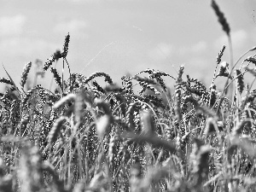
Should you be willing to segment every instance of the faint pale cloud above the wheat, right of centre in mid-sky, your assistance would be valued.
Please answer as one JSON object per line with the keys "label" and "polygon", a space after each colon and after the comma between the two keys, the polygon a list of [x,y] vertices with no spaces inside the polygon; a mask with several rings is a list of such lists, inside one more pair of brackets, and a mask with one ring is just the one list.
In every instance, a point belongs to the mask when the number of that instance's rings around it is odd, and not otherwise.
{"label": "faint pale cloud above the wheat, right of centre in mid-sky", "polygon": [[173,54],[174,47],[172,44],[160,43],[154,49],[151,49],[148,53],[149,57],[155,61],[166,60]]}

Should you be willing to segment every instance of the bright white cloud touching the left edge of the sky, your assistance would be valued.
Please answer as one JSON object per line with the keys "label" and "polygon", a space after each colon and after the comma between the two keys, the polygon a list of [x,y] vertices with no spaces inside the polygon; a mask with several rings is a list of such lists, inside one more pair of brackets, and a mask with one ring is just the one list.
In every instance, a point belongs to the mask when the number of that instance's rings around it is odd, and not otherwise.
{"label": "bright white cloud touching the left edge of the sky", "polygon": [[26,16],[15,15],[12,17],[3,16],[0,18],[0,35],[19,35],[23,31]]}

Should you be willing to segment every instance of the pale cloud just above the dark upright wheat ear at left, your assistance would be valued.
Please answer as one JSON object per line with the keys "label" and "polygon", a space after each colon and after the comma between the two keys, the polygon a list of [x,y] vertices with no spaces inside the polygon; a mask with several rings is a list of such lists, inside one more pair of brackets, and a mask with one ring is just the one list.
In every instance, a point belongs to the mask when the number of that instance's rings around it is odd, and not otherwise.
{"label": "pale cloud just above the dark upright wheat ear at left", "polygon": [[88,38],[88,34],[85,31],[87,27],[88,23],[84,20],[69,20],[58,23],[55,26],[54,32],[63,34],[69,32],[75,38]]}

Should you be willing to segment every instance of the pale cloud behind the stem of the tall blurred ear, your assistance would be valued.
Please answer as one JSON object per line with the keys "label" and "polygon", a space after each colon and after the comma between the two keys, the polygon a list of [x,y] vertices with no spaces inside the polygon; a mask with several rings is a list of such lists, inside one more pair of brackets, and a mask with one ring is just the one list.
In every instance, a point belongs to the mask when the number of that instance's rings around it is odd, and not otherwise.
{"label": "pale cloud behind the stem of the tall blurred ear", "polygon": [[[247,43],[248,34],[244,30],[231,32],[232,46],[234,49],[241,49]],[[223,45],[228,45],[228,38],[226,35],[218,38],[215,43],[215,48],[220,49]]]}

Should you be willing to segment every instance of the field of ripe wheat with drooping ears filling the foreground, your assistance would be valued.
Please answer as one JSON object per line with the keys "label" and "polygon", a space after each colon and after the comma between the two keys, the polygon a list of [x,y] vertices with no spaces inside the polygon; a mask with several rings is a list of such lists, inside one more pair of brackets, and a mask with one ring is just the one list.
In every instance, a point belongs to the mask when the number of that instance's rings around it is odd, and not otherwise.
{"label": "field of ripe wheat with drooping ears filling the foreground", "polygon": [[[6,71],[0,191],[256,191],[256,47],[233,61],[230,26],[213,0],[212,9],[231,58],[222,61],[226,46],[216,53],[209,88],[183,74],[183,66],[176,77],[145,69],[118,84],[107,73],[72,73],[69,34],[40,72],[53,74],[54,91],[24,88],[32,62],[19,84]],[[223,87],[216,87],[218,78]],[[175,82],[173,94],[164,79]]]}

